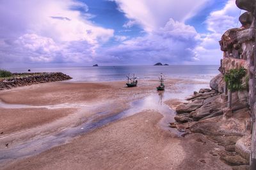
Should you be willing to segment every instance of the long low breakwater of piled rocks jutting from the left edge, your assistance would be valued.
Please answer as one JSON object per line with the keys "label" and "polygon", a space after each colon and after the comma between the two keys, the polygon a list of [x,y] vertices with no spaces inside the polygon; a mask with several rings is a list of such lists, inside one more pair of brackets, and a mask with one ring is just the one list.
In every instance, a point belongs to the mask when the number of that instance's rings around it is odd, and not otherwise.
{"label": "long low breakwater of piled rocks jutting from the left edge", "polygon": [[10,78],[0,78],[0,90],[12,89],[13,87],[22,87],[38,83],[47,83],[52,81],[63,81],[72,79],[70,76],[56,73],[12,73]]}

